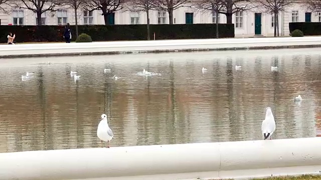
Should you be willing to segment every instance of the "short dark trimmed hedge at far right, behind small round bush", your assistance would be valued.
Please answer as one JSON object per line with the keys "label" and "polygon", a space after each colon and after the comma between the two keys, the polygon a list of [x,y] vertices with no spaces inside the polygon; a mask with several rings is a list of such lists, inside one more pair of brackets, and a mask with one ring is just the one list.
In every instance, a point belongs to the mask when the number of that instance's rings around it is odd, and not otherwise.
{"label": "short dark trimmed hedge at far right, behind small round bush", "polygon": [[299,29],[304,35],[321,35],[321,22],[289,22],[289,30]]}

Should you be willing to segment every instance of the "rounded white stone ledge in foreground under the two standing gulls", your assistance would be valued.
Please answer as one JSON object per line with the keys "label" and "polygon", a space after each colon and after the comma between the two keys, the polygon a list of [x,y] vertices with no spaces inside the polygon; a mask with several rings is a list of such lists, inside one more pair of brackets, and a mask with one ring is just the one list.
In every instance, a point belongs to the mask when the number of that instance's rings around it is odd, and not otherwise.
{"label": "rounded white stone ledge in foreground under the two standing gulls", "polygon": [[0,179],[209,179],[320,174],[321,137],[0,153]]}

